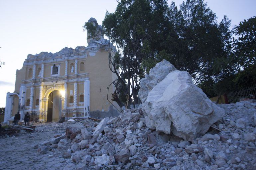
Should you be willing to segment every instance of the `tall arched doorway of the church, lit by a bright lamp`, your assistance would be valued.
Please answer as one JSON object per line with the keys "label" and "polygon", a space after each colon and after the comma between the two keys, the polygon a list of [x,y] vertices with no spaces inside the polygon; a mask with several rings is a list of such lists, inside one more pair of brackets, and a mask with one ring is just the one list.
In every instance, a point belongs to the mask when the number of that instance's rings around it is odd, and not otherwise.
{"label": "tall arched doorway of the church, lit by a bright lamp", "polygon": [[48,96],[47,121],[59,121],[62,114],[61,93],[59,90],[52,91]]}

